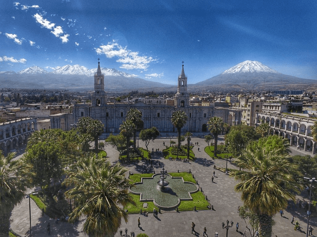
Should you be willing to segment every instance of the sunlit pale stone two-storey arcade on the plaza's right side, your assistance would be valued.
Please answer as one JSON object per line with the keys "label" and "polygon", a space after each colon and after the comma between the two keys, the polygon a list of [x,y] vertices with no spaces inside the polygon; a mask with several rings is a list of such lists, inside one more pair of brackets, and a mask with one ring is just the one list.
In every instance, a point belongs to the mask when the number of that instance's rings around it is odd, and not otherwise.
{"label": "sunlit pale stone two-storey arcade on the plaza's right side", "polygon": [[317,153],[317,142],[312,136],[312,126],[316,120],[285,114],[257,113],[256,126],[264,122],[269,123],[271,134],[286,138],[291,146],[312,152],[314,155]]}

